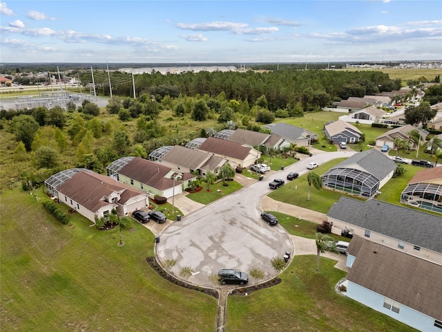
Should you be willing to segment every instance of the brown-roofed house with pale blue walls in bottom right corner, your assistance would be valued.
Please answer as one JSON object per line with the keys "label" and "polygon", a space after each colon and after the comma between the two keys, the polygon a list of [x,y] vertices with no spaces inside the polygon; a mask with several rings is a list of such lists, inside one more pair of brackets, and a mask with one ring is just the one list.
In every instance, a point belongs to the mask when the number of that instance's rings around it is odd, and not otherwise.
{"label": "brown-roofed house with pale blue walls in bottom right corner", "polygon": [[348,297],[419,331],[441,331],[440,264],[358,236],[347,252]]}

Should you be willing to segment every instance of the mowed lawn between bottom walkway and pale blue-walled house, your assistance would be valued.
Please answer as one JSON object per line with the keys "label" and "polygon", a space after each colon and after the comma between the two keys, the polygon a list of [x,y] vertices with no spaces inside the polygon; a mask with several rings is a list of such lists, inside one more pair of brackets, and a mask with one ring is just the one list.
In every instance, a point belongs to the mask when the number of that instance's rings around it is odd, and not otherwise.
{"label": "mowed lawn between bottom walkway and pale blue-walled house", "polygon": [[336,261],[296,256],[277,286],[227,299],[227,331],[416,331],[387,315],[338,295],[335,285],[347,273]]}

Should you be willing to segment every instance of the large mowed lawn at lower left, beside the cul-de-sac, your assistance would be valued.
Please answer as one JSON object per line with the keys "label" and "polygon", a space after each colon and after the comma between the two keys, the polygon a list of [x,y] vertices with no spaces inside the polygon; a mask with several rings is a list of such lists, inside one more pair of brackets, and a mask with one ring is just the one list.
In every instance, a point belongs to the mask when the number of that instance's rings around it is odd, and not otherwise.
{"label": "large mowed lawn at lower left, beside the cul-de-sac", "polygon": [[148,266],[155,238],[144,226],[134,221],[119,247],[117,229],[99,231],[79,214],[69,219],[59,224],[19,188],[1,194],[2,331],[215,329],[215,298]]}

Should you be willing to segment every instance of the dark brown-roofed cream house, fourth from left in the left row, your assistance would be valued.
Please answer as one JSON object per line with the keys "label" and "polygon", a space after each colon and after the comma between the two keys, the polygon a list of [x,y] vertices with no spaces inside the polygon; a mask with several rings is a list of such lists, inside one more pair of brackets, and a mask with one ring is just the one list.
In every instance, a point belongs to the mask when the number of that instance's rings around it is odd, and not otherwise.
{"label": "dark brown-roofed cream house, fourth from left in the left row", "polygon": [[209,137],[198,147],[199,151],[206,151],[213,156],[226,158],[233,168],[239,166],[247,168],[260,158],[260,151],[248,145],[221,138]]}

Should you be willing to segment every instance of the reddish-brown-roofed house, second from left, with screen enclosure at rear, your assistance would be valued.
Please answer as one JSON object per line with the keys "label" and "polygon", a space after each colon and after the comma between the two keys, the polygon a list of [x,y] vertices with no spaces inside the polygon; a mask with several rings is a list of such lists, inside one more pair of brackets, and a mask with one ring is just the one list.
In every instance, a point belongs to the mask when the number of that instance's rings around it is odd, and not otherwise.
{"label": "reddish-brown-roofed house, second from left, with screen enclosure at rear", "polygon": [[189,181],[196,178],[195,175],[181,169],[173,169],[138,157],[115,160],[106,167],[106,172],[111,178],[148,193],[151,198],[158,195],[169,199],[181,194],[189,186]]}

